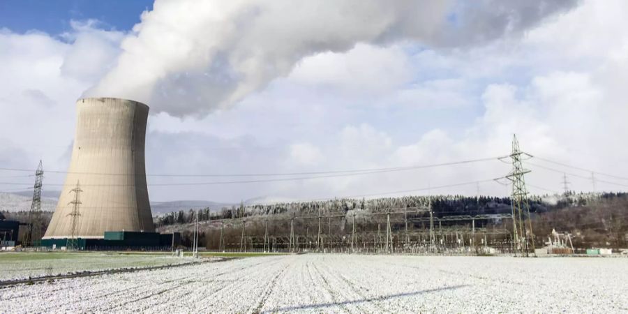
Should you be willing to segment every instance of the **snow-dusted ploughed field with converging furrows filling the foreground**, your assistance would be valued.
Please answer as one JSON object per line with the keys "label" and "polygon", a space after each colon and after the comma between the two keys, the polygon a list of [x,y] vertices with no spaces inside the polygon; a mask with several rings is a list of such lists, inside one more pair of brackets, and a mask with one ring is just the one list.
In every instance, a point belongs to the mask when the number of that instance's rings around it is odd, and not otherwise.
{"label": "snow-dusted ploughed field with converging furrows filling the foreground", "polygon": [[0,289],[0,313],[622,313],[624,258],[285,255]]}

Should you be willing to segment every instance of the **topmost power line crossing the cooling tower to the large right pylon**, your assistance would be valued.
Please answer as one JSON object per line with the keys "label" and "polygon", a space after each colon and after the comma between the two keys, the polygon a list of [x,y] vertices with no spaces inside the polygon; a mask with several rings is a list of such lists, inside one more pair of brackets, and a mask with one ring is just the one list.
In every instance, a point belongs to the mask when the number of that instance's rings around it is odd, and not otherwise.
{"label": "topmost power line crossing the cooling tower to the large right pylon", "polygon": [[[307,174],[352,174],[352,173],[379,173],[379,172],[396,172],[405,170],[416,170],[430,167],[442,167],[448,165],[461,165],[465,163],[477,163],[481,161],[496,160],[503,158],[503,156],[490,157],[490,158],[478,158],[470,160],[460,160],[450,163],[435,163],[431,165],[416,165],[407,167],[382,167],[382,168],[368,168],[368,169],[356,169],[356,170],[329,170],[329,171],[317,171],[317,172],[276,172],[276,173],[250,173],[250,174],[145,174],[146,177],[282,177],[282,176],[294,176],[294,175],[307,175]],[[0,170],[16,171],[16,172],[32,172],[29,169],[19,168],[6,168],[0,167]],[[136,176],[144,174],[126,174],[126,173],[105,173],[105,172],[69,172],[61,170],[47,170],[47,173],[61,173],[61,174],[93,174],[93,175],[110,175],[110,176]]]}

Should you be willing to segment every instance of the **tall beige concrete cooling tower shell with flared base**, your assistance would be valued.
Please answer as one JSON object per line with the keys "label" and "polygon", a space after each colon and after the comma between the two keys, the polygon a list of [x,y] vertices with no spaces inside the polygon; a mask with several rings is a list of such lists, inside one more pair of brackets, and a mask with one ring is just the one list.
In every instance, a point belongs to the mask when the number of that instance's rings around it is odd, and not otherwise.
{"label": "tall beige concrete cooling tower shell with flared base", "polygon": [[[72,234],[103,238],[105,231],[154,232],[144,167],[149,107],[133,100],[84,98],[77,101],[72,160],[59,203],[43,239]],[[80,216],[70,215],[80,182]]]}

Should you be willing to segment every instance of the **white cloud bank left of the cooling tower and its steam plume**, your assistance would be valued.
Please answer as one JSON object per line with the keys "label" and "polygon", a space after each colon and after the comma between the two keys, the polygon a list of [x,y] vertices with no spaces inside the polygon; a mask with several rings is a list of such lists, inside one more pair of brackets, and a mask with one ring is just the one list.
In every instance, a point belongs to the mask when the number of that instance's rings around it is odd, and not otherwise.
{"label": "white cloud bank left of the cooling tower and its steam plume", "polygon": [[25,151],[7,163],[34,168],[43,159],[47,169],[66,167],[75,102],[106,70],[101,62],[115,58],[122,37],[93,23],[73,22],[72,33],[61,38],[0,31],[0,139]]}

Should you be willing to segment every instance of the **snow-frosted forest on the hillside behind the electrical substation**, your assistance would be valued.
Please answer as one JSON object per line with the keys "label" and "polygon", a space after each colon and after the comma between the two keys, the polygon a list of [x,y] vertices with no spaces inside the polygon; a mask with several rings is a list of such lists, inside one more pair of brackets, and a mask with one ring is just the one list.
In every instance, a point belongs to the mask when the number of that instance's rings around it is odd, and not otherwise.
{"label": "snow-frosted forest on the hillside behind the electrical substation", "polygon": [[[552,230],[571,234],[574,247],[627,247],[628,237],[628,194],[627,193],[567,193],[565,195],[543,195],[531,197],[529,200],[532,231],[536,235],[535,245],[544,245]],[[385,197],[372,200],[335,199],[317,202],[290,202],[278,204],[241,204],[239,207],[223,207],[221,209],[203,209],[200,211],[176,211],[156,217],[156,226],[160,230],[181,230],[184,241],[190,239],[191,226],[196,220],[201,223],[202,239],[200,245],[210,249],[232,248],[239,250],[243,246],[266,248],[264,234],[272,234],[278,246],[290,244],[290,230],[293,237],[301,238],[301,245],[306,241],[317,242],[319,220],[323,220],[324,237],[330,244],[347,247],[348,237],[352,232],[358,234],[363,242],[369,241],[377,246],[382,236],[387,217],[391,221],[393,241],[403,246],[405,239],[414,237],[414,243],[426,240],[429,228],[427,217],[431,210],[433,220],[443,220],[439,227],[445,232],[456,231],[456,234],[484,232],[490,234],[491,241],[501,243],[507,241],[511,221],[498,218],[475,220],[447,221],[451,216],[477,216],[511,214],[509,197],[466,197],[449,196],[407,196]],[[387,214],[389,215],[387,216]],[[356,224],[356,231],[352,224]],[[291,227],[292,224],[292,227]],[[434,227],[435,228],[435,227]],[[244,240],[242,237],[245,230]],[[220,244],[220,230],[223,230],[223,244]],[[465,231],[466,230],[466,231]],[[299,234],[298,236],[296,234]],[[377,234],[373,236],[373,234]],[[473,234],[472,237],[481,237]],[[374,239],[366,239],[374,237]],[[456,235],[458,237],[458,235]],[[296,241],[297,239],[292,239]],[[481,241],[472,239],[471,241]],[[270,240],[269,240],[270,241]],[[325,241],[325,240],[320,240]],[[383,240],[382,240],[383,241]],[[489,239],[486,239],[489,241]],[[244,243],[243,243],[244,242]],[[357,241],[359,242],[359,240]],[[185,243],[185,242],[184,242]],[[366,245],[366,244],[365,244]]]}

